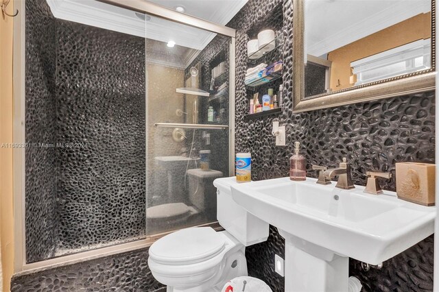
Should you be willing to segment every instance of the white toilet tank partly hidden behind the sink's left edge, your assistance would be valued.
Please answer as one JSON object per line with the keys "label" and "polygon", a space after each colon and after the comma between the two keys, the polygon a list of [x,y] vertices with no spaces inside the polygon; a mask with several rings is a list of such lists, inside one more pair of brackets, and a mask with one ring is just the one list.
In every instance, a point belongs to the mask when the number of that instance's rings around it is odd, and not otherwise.
{"label": "white toilet tank partly hidden behind the sink's left edge", "polygon": [[[230,186],[236,185],[236,178],[217,178],[213,185],[217,188],[217,220],[230,234],[244,245],[261,243],[268,238],[268,223],[254,217],[239,206],[232,198]],[[251,182],[246,182],[251,184]]]}

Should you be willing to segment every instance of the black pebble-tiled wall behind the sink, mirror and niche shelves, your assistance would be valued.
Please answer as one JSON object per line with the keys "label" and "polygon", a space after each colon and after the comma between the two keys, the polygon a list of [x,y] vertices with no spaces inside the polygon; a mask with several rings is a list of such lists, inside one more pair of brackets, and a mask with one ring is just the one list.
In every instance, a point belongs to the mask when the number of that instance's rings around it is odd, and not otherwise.
{"label": "black pebble-tiled wall behind the sink, mirror and niche shelves", "polygon": [[[283,45],[285,109],[278,118],[287,126],[287,147],[275,146],[271,134],[274,117],[244,119],[250,97],[244,85],[248,32],[258,21],[281,21],[278,17],[267,17],[280,4],[286,39]],[[353,164],[354,183],[361,185],[366,183],[368,170],[394,173],[396,162],[434,162],[434,92],[292,113],[292,17],[290,0],[250,0],[229,23],[237,29],[236,151],[252,153],[252,178],[287,176],[294,141],[302,143],[307,169],[313,164],[335,167],[346,157]],[[316,174],[309,172],[309,175]],[[394,180],[383,184],[385,189],[394,191]],[[432,291],[433,250],[433,236],[429,236],[386,261],[381,270],[362,271],[360,263],[351,259],[350,274],[361,280],[363,291]],[[267,282],[274,292],[281,292],[283,278],[274,272],[274,254],[283,256],[284,241],[276,228],[270,228],[267,242],[247,248],[248,271],[250,276]]]}

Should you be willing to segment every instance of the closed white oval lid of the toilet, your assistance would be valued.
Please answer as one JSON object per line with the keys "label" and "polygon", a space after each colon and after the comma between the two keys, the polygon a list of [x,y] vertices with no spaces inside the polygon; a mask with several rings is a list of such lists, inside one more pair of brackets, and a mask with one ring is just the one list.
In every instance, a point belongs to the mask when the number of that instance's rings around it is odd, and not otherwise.
{"label": "closed white oval lid of the toilet", "polygon": [[200,263],[222,252],[224,244],[224,237],[210,227],[185,228],[153,243],[150,258],[167,265]]}

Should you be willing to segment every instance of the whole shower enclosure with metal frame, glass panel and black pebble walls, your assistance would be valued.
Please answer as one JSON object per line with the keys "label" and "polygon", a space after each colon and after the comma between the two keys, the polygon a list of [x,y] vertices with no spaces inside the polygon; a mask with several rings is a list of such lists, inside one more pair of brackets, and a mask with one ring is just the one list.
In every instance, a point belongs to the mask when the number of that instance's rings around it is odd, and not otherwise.
{"label": "whole shower enclosure with metal frame, glass panel and black pebble walls", "polygon": [[21,7],[18,270],[214,224],[212,182],[233,175],[235,31],[145,1],[82,4]]}

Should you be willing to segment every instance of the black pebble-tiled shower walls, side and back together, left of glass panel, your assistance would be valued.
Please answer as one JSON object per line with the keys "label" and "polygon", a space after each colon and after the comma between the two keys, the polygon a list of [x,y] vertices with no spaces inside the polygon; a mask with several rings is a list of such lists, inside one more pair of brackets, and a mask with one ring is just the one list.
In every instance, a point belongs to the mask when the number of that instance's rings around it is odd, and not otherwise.
{"label": "black pebble-tiled shower walls, side and back together, left of glass panel", "polygon": [[26,10],[27,262],[143,236],[144,39]]}

